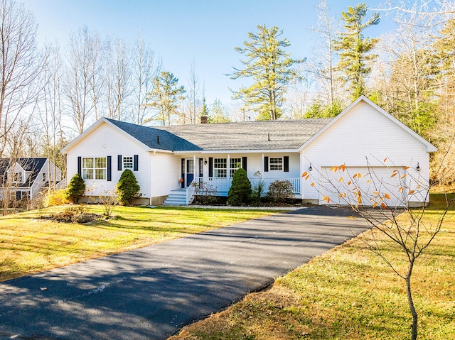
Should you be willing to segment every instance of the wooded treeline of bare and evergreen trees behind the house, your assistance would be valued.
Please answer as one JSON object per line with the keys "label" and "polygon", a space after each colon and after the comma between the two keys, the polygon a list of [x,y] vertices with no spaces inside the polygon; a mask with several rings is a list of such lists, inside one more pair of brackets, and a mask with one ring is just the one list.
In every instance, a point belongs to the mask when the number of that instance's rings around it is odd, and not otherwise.
{"label": "wooded treeline of bare and evergreen trees behind the house", "polygon": [[[453,165],[446,151],[455,132],[455,4],[410,4],[358,4],[336,17],[322,0],[310,28],[318,45],[299,60],[287,53],[284,32],[257,26],[235,48],[244,68],[230,75],[233,84],[252,84],[233,90],[238,104],[230,105],[206,103],[196,61],[179,82],[140,34],[129,44],[82,27],[68,50],[40,46],[33,13],[1,0],[0,158],[40,155],[64,169],[59,150],[102,116],[147,125],[331,117],[365,94],[434,143],[434,160]],[[381,16],[396,28],[368,37]]]}

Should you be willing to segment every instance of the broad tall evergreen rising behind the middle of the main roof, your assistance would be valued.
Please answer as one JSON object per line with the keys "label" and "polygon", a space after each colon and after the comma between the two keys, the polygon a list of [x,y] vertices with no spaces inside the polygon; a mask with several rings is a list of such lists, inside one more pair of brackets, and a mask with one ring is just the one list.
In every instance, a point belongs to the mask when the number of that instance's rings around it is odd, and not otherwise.
{"label": "broad tall evergreen rising behind the middle of the main roof", "polygon": [[253,84],[234,92],[234,98],[242,99],[246,110],[257,112],[258,120],[279,119],[285,89],[291,79],[299,77],[292,65],[303,60],[292,60],[284,52],[290,43],[286,38],[279,40],[283,32],[277,26],[258,25],[257,30],[258,33],[248,33],[250,41],[244,42],[245,48],[235,48],[247,60],[240,60],[245,68],[234,67],[230,77],[252,78]]}

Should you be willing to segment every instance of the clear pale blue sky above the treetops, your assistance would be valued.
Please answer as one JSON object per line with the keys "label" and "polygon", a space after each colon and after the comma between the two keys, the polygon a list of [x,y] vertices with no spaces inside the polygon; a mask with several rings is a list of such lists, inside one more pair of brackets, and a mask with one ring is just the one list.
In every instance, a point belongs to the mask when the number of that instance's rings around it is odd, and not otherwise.
{"label": "clear pale blue sky above the treetops", "polygon": [[[123,38],[129,43],[141,31],[146,44],[163,61],[164,69],[172,72],[186,86],[191,62],[205,84],[205,96],[210,104],[215,99],[230,102],[229,88],[238,89],[242,80],[226,74],[232,67],[241,67],[242,57],[235,47],[242,46],[248,32],[257,25],[278,26],[282,37],[291,43],[291,57],[301,59],[311,55],[316,25],[314,6],[319,0],[18,0],[32,11],[38,23],[38,40],[57,40],[65,50],[71,32],[87,26],[101,37]],[[360,1],[327,0],[333,16]],[[383,1],[365,1],[378,8]],[[368,16],[369,17],[369,16]],[[390,27],[390,19],[366,32],[378,36]]]}

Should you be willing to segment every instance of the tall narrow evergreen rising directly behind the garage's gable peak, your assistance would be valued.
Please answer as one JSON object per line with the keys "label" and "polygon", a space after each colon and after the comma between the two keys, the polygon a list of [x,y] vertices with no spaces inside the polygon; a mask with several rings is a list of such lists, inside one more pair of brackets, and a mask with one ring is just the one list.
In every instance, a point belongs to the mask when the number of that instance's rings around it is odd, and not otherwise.
{"label": "tall narrow evergreen rising directly behind the garage's gable peak", "polygon": [[368,54],[378,43],[378,39],[365,38],[363,31],[380,21],[379,14],[373,16],[366,23],[368,9],[365,4],[348,7],[347,12],[341,13],[346,31],[342,32],[335,40],[333,47],[340,51],[338,69],[344,72],[344,82],[350,84],[352,99],[355,100],[365,92],[365,77],[371,72],[368,62],[375,59],[375,55]]}

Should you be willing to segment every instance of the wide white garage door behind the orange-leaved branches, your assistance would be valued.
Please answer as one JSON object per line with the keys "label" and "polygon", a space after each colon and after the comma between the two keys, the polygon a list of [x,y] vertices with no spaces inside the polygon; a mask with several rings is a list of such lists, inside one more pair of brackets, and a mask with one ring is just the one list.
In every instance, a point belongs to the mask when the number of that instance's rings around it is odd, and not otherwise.
{"label": "wide white garage door behind the orange-leaved branches", "polygon": [[321,204],[401,207],[405,202],[403,168],[321,168]]}

